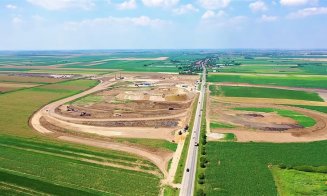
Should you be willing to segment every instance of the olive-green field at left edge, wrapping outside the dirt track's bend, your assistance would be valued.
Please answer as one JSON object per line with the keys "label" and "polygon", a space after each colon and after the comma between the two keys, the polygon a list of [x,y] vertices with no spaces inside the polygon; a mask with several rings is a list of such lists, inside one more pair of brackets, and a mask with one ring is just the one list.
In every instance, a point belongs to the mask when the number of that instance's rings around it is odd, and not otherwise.
{"label": "olive-green field at left edge, wrapping outside the dirt track's bend", "polygon": [[[71,86],[67,86],[66,84]],[[0,133],[31,136],[36,133],[28,126],[28,118],[41,106],[53,100],[70,96],[95,85],[94,80],[74,80],[33,87],[0,95]],[[53,88],[53,85],[56,87]],[[71,89],[70,89],[71,88]]]}

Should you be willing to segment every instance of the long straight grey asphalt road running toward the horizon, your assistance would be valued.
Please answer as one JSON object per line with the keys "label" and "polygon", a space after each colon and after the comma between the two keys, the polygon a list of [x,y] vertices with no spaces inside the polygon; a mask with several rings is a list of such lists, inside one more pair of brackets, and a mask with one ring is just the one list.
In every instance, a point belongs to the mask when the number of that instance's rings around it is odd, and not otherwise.
{"label": "long straight grey asphalt road running toward the horizon", "polygon": [[[195,146],[196,143],[199,143],[200,140],[200,130],[201,130],[201,118],[202,118],[202,109],[204,103],[204,95],[205,95],[205,82],[206,82],[206,70],[203,70],[202,74],[202,83],[201,83],[201,91],[199,96],[199,102],[196,108],[196,114],[194,119],[194,125],[190,140],[190,146],[187,153],[185,171],[183,175],[180,196],[192,196],[194,191],[194,182],[195,182],[195,174],[196,174],[196,163],[198,157],[198,146]],[[187,169],[189,171],[187,171]]]}

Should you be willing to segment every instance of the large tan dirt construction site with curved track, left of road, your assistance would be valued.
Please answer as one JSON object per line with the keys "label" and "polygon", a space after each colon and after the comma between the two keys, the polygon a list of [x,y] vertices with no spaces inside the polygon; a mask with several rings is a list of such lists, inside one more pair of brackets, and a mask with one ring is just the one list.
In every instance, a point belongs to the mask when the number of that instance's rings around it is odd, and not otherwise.
{"label": "large tan dirt construction site with curved track, left of road", "polygon": [[124,73],[93,79],[101,82],[44,106],[30,119],[31,126],[65,141],[137,154],[167,175],[173,152],[116,139],[178,143],[188,127],[199,77]]}

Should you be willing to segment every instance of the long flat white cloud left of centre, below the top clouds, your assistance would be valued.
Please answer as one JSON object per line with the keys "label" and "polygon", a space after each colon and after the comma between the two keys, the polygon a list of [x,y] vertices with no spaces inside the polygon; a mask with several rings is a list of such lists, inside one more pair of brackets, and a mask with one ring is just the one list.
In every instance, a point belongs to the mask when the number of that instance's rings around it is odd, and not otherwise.
{"label": "long flat white cloud left of centre, below the top clouds", "polygon": [[162,27],[169,24],[168,21],[157,19],[157,18],[150,18],[148,16],[139,16],[139,17],[105,17],[105,18],[95,18],[95,19],[88,19],[78,22],[68,22],[65,24],[66,29],[77,29],[80,27],[104,27],[104,26],[111,26],[111,25],[133,25],[139,27]]}

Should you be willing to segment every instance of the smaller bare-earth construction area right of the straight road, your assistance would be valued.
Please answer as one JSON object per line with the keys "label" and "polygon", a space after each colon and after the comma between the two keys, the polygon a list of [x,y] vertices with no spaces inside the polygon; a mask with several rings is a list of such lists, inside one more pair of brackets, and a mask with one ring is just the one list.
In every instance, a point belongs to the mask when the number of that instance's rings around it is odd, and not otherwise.
{"label": "smaller bare-earth construction area right of the straight road", "polygon": [[[208,90],[209,93],[209,90]],[[209,139],[217,140],[224,133],[233,133],[238,142],[310,142],[327,139],[327,115],[318,111],[304,109],[288,104],[321,105],[326,102],[304,103],[298,100],[217,97],[207,96],[207,123],[223,123],[230,127],[209,128]],[[259,108],[272,110],[287,110],[314,119],[315,124],[303,127],[290,117],[278,112],[260,112],[238,110],[236,108]]]}

